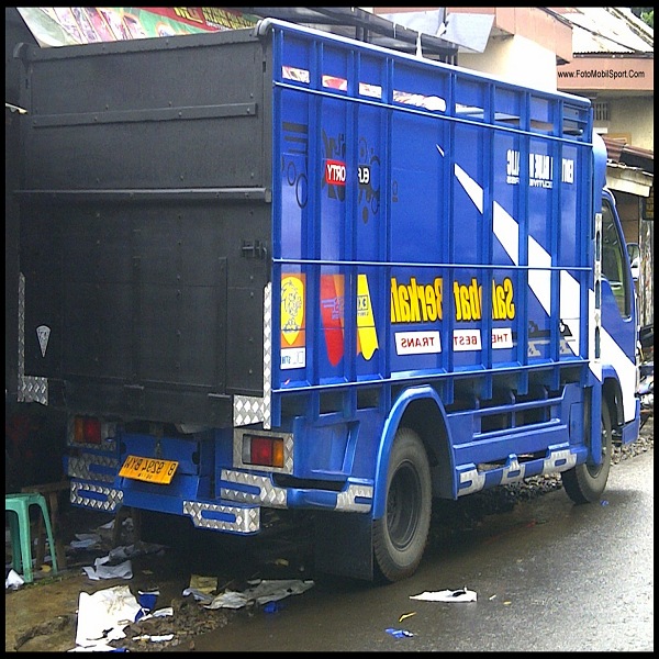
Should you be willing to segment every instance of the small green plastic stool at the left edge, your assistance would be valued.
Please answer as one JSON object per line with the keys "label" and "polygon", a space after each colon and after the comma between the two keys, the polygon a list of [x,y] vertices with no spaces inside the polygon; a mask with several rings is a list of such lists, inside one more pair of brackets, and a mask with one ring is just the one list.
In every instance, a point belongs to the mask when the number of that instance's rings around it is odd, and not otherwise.
{"label": "small green plastic stool at the left edge", "polygon": [[51,526],[51,515],[48,506],[43,494],[36,492],[23,492],[19,494],[4,495],[4,511],[11,511],[9,515],[9,529],[11,533],[11,560],[13,569],[23,573],[26,583],[34,581],[32,570],[32,529],[30,526],[30,506],[37,505],[44,516],[46,525],[46,535],[53,558],[53,573],[57,574],[57,551],[53,538],[53,527]]}

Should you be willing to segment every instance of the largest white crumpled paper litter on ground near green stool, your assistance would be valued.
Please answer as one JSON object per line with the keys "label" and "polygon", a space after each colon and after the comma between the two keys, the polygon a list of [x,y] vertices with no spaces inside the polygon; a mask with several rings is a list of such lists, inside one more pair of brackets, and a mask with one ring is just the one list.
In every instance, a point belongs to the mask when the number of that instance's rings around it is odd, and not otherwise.
{"label": "largest white crumpled paper litter on ground near green stool", "polygon": [[82,648],[125,638],[124,627],[142,611],[127,585],[115,585],[93,594],[81,592],[78,600],[76,645]]}

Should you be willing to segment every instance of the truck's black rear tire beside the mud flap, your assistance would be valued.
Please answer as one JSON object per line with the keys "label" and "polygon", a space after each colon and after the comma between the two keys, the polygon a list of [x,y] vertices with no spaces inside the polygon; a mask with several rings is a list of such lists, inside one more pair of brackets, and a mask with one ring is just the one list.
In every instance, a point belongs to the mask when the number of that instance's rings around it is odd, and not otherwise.
{"label": "truck's black rear tire beside the mud flap", "polygon": [[423,442],[410,428],[399,428],[389,456],[387,511],[373,521],[377,580],[400,581],[415,572],[428,538],[432,498]]}

